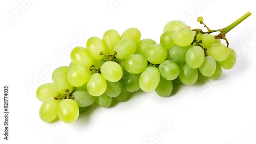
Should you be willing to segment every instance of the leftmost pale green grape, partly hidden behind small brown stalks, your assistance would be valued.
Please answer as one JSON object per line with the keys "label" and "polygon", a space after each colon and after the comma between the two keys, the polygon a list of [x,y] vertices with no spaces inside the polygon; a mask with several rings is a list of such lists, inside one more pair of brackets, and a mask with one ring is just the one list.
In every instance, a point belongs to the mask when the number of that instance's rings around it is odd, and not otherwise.
{"label": "leftmost pale green grape, partly hidden behind small brown stalks", "polygon": [[36,89],[36,98],[40,101],[45,101],[47,98],[57,96],[60,93],[55,89],[53,83],[46,83],[40,85]]}

